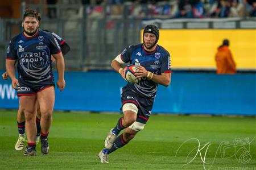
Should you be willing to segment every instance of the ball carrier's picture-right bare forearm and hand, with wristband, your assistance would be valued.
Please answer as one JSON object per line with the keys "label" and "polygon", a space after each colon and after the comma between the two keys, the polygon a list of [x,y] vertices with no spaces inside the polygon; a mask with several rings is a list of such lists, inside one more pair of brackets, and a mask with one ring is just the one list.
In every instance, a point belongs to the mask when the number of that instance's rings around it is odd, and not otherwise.
{"label": "ball carrier's picture-right bare forearm and hand, with wristband", "polygon": [[135,75],[137,76],[136,78],[151,76],[151,80],[158,84],[162,84],[164,86],[168,86],[171,84],[171,73],[162,73],[161,75],[158,75],[148,72],[146,68],[142,67],[141,65],[137,66],[137,68],[139,69],[139,71],[135,73]]}

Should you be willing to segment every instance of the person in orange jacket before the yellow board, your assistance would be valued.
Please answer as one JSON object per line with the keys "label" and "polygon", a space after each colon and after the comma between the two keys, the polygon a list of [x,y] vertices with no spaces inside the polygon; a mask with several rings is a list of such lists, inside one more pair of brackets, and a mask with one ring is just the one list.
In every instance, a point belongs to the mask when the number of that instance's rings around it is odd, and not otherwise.
{"label": "person in orange jacket before the yellow board", "polygon": [[236,74],[236,63],[234,62],[232,53],[229,47],[229,40],[224,39],[222,45],[218,47],[218,52],[215,55],[217,65],[217,74]]}

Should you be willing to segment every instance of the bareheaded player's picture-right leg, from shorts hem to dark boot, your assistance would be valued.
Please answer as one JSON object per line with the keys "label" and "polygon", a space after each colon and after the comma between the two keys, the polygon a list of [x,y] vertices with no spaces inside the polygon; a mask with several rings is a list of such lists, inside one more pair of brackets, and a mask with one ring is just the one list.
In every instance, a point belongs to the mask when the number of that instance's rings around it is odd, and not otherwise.
{"label": "bareheaded player's picture-right leg, from shorts hem to dark boot", "polygon": [[48,154],[49,152],[49,144],[48,144],[48,134],[49,128],[52,124],[52,111],[53,105],[55,101],[55,93],[54,87],[48,86],[44,88],[42,91],[37,93],[38,102],[40,105],[41,111],[41,131],[40,131],[40,139],[41,139],[41,151],[42,154]]}

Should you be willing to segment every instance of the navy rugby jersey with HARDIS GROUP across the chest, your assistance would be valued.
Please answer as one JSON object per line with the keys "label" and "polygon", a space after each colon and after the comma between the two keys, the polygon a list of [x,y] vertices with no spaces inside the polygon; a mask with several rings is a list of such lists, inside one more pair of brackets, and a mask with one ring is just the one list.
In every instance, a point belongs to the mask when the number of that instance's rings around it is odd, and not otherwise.
{"label": "navy rugby jersey with HARDIS GROUP across the chest", "polygon": [[18,61],[19,78],[31,83],[53,79],[51,55],[60,53],[57,39],[42,30],[27,37],[23,33],[11,39],[7,48],[7,60]]}

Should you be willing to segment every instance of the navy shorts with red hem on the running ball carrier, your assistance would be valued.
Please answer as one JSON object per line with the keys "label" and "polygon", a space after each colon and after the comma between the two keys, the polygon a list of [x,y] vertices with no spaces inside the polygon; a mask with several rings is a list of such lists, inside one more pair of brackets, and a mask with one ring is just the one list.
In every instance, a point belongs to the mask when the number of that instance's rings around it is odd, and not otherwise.
{"label": "navy shorts with red hem on the running ball carrier", "polygon": [[[154,103],[154,98],[141,97],[133,91],[129,90],[126,86],[122,89],[122,106],[125,103],[134,103],[138,107],[137,122],[146,124],[150,117],[151,110]],[[122,110],[122,107],[121,107]]]}

